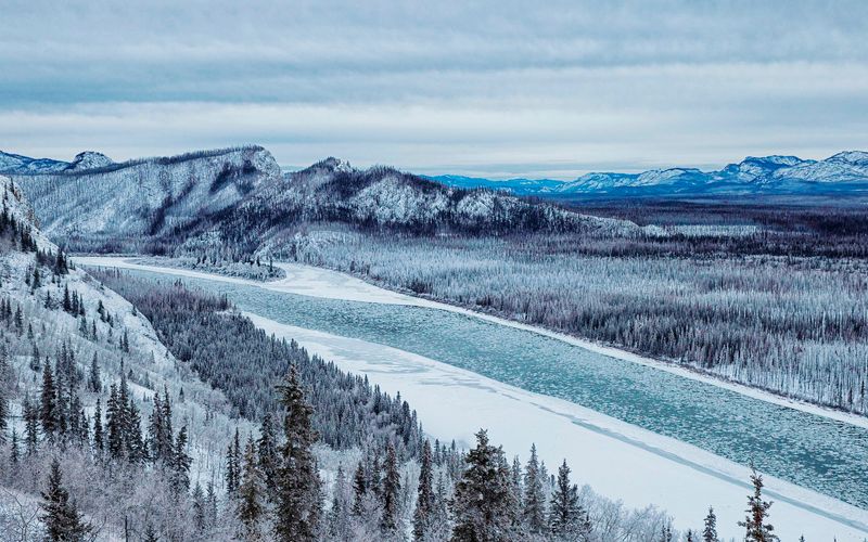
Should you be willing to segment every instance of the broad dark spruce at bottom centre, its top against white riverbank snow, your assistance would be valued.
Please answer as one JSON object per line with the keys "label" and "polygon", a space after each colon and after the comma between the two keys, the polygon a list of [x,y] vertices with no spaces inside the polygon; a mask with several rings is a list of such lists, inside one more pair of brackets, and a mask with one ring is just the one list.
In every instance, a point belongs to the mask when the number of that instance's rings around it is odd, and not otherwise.
{"label": "broad dark spruce at bottom centre, its top against white riverbank snow", "polygon": [[510,511],[511,481],[503,451],[476,434],[476,448],[464,457],[467,468],[455,488],[452,515],[456,542],[500,542],[514,539]]}

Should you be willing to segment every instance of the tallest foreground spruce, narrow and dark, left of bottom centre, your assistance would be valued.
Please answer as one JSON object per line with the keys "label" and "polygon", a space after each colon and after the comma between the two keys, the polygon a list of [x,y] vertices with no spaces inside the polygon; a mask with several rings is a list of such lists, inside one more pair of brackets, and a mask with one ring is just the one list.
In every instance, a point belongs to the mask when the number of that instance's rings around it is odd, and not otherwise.
{"label": "tallest foreground spruce, narrow and dark, left of bottom centre", "polygon": [[285,442],[280,447],[275,534],[281,542],[305,542],[316,539],[320,506],[319,475],[312,453],[317,440],[314,409],[305,400],[295,365],[278,391],[286,416]]}

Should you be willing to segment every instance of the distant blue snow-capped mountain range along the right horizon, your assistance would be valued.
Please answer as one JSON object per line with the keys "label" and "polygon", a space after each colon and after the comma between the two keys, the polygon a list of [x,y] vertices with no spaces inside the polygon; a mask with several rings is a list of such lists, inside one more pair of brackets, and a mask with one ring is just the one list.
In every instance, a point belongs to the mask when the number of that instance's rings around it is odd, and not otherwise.
{"label": "distant blue snow-capped mountain range along the right horizon", "polygon": [[430,179],[450,186],[484,186],[515,195],[545,197],[868,195],[868,153],[846,151],[822,160],[805,160],[796,156],[749,156],[717,171],[669,168],[642,173],[593,172],[574,181],[499,181],[451,175]]}

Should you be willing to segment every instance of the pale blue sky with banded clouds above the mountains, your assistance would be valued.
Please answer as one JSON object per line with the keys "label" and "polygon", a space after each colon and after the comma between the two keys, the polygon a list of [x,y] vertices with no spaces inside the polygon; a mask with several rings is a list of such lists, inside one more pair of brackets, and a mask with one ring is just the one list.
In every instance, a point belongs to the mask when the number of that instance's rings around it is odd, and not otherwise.
{"label": "pale blue sky with banded clouds above the mountains", "polygon": [[0,0],[0,150],[572,179],[868,150],[868,2]]}

